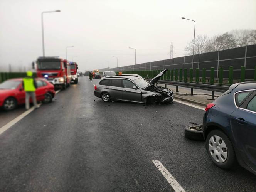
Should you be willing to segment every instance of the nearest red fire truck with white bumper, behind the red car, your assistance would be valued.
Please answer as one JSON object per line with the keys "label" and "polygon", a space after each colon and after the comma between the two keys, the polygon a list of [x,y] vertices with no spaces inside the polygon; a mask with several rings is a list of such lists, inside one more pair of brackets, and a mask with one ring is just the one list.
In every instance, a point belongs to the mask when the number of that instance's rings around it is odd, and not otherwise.
{"label": "nearest red fire truck with white bumper, behind the red car", "polygon": [[37,77],[43,77],[55,87],[66,89],[71,83],[70,63],[58,57],[39,57],[36,61]]}

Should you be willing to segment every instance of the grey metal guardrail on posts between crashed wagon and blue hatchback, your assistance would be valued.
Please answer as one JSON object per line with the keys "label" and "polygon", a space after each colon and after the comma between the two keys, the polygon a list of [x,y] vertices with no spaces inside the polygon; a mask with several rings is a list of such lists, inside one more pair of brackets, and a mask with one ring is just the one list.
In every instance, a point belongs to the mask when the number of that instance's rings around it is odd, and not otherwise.
{"label": "grey metal guardrail on posts between crashed wagon and blue hatchback", "polygon": [[212,91],[212,99],[214,99],[214,93],[221,92],[224,93],[229,89],[229,86],[220,86],[220,85],[211,85],[211,84],[199,84],[199,83],[185,83],[179,81],[166,81],[166,80],[159,80],[157,81],[158,84],[165,84],[166,85],[173,85],[176,86],[176,92],[178,92],[178,87],[186,87],[190,88],[190,94],[193,95],[194,89],[202,89],[207,91]]}

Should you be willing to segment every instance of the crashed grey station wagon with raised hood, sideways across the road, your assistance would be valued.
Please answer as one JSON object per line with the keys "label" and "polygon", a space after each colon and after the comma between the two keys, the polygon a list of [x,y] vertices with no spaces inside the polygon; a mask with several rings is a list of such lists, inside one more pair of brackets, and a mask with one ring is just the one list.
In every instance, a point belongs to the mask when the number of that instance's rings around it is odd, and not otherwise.
{"label": "crashed grey station wagon with raised hood, sideways across the road", "polygon": [[137,76],[104,77],[94,86],[94,95],[103,101],[120,100],[137,103],[173,102],[173,92],[168,88],[155,86],[167,70],[160,72],[149,83]]}

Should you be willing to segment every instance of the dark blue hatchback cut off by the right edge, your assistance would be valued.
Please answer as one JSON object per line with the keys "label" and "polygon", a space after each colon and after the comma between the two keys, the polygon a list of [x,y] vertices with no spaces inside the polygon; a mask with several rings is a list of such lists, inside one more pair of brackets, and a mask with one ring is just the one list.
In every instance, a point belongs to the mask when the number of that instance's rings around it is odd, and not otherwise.
{"label": "dark blue hatchback cut off by the right edge", "polygon": [[225,169],[239,162],[256,175],[256,82],[233,84],[205,111],[203,134],[212,162]]}

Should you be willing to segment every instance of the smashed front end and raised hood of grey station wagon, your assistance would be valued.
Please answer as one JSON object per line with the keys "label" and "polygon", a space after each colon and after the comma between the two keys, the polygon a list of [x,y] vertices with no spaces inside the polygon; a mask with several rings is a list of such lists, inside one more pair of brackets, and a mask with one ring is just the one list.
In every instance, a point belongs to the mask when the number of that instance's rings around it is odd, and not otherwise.
{"label": "smashed front end and raised hood of grey station wagon", "polygon": [[145,103],[149,104],[170,104],[173,102],[173,92],[168,88],[164,88],[162,86],[155,85],[157,81],[167,72],[167,69],[160,72],[157,76],[155,76],[148,85],[143,88],[142,98]]}

